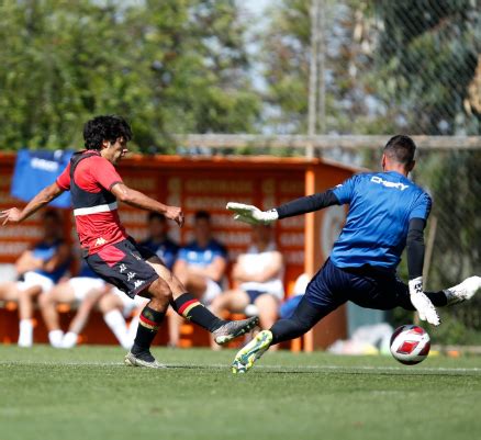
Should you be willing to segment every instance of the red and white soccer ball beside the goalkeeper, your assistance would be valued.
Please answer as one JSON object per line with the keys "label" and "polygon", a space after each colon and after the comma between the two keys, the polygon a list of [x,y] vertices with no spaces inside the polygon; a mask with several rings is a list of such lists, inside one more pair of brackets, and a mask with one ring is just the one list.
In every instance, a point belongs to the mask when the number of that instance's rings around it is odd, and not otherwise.
{"label": "red and white soccer ball beside the goalkeeper", "polygon": [[414,365],[424,361],[429,354],[429,335],[420,326],[401,326],[392,334],[390,348],[396,361],[405,365]]}

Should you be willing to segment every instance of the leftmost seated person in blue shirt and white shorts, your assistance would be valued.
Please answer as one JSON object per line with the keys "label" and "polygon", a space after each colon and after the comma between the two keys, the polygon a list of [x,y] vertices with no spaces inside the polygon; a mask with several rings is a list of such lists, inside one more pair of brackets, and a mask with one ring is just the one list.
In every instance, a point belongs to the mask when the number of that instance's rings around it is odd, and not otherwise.
{"label": "leftmost seated person in blue shirt and white shorts", "polygon": [[22,281],[0,285],[0,300],[19,302],[19,346],[33,343],[33,301],[65,274],[70,262],[70,247],[63,239],[63,224],[57,211],[42,216],[44,237],[25,250],[16,260],[15,269]]}

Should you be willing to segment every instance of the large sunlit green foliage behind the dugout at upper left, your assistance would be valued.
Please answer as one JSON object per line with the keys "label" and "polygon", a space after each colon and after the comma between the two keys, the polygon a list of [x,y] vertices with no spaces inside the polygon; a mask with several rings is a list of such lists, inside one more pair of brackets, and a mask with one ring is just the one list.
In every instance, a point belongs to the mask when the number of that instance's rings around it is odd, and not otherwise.
{"label": "large sunlit green foliage behind the dugout at upper left", "polygon": [[78,148],[83,122],[105,113],[125,115],[145,151],[172,145],[168,134],[253,131],[235,1],[128,4],[0,4],[2,148]]}

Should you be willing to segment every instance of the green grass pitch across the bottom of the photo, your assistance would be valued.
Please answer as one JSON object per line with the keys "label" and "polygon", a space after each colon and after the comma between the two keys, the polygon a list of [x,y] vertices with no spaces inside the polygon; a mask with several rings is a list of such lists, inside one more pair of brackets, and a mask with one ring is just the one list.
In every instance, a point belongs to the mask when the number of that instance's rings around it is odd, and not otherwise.
{"label": "green grass pitch across the bottom of the photo", "polygon": [[170,368],[123,365],[114,347],[0,346],[0,439],[474,439],[481,359],[156,349]]}

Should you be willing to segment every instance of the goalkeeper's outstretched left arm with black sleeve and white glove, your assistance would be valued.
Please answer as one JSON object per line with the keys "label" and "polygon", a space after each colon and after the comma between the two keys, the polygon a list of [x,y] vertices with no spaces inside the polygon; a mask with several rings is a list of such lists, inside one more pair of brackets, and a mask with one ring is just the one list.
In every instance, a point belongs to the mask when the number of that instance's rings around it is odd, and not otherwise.
{"label": "goalkeeper's outstretched left arm with black sleeve and white glove", "polygon": [[227,203],[226,207],[227,210],[234,211],[236,213],[234,218],[240,222],[268,224],[277,219],[312,213],[338,204],[340,203],[334,191],[327,190],[325,192],[295,199],[269,211],[260,211],[256,206],[235,202]]}

